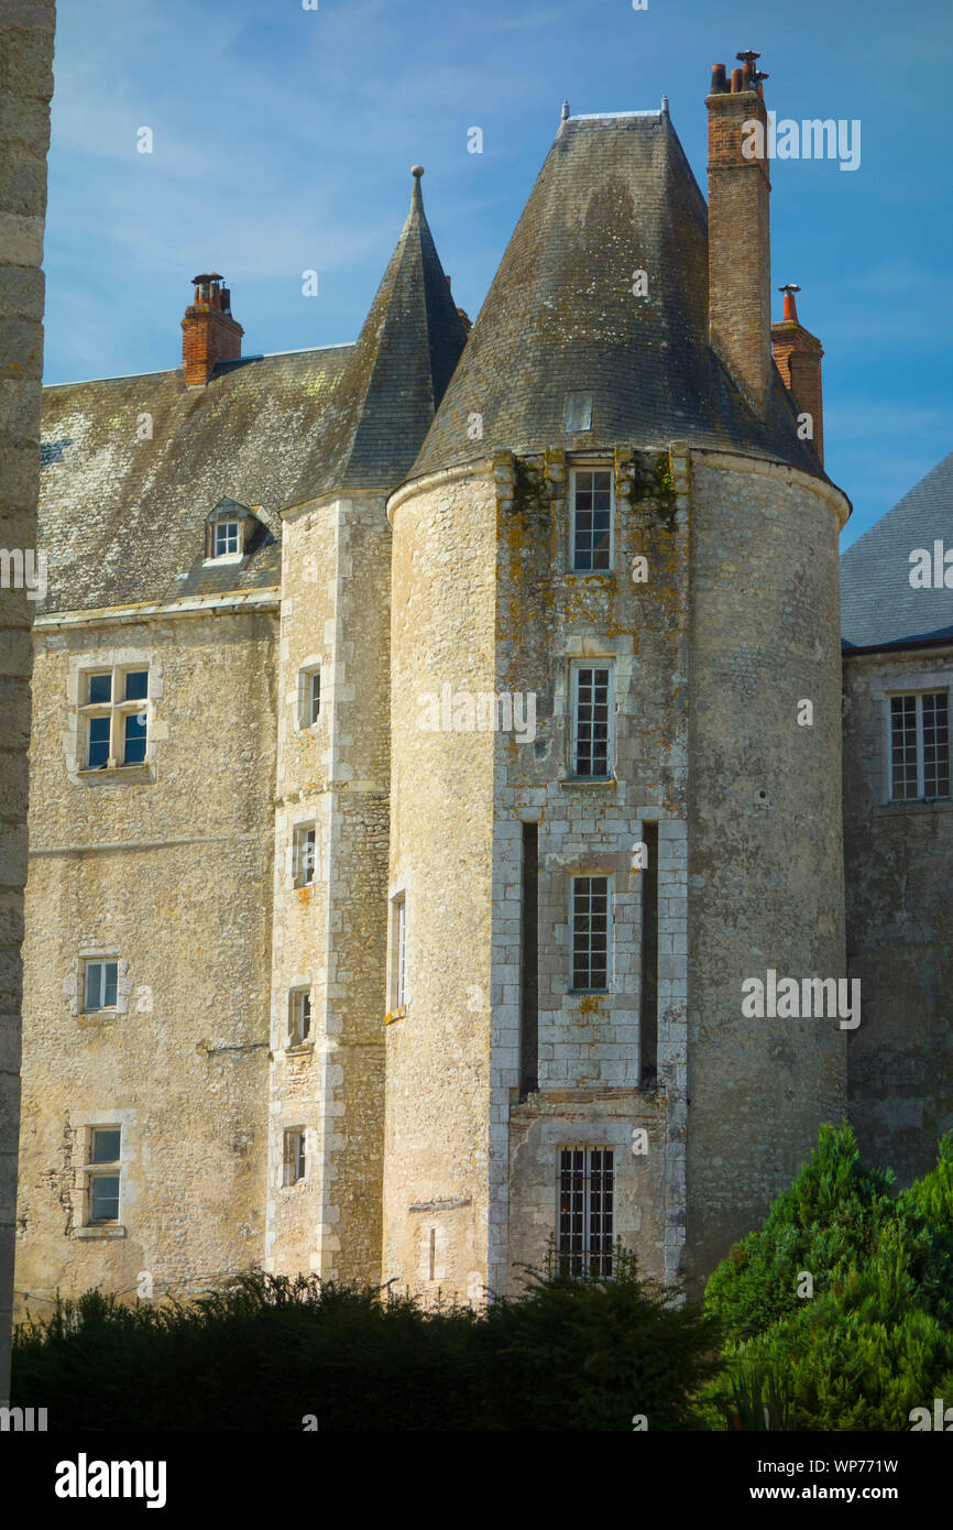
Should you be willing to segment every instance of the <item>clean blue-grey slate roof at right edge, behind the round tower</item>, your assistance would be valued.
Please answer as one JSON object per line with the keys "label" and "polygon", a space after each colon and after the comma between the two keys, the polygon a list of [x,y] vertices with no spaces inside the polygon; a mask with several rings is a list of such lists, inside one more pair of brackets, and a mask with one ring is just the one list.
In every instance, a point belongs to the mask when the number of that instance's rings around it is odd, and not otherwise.
{"label": "clean blue-grey slate roof at right edge, behind the round tower", "polygon": [[953,551],[953,451],[840,560],[846,652],[953,641],[953,589],[913,589],[910,554]]}

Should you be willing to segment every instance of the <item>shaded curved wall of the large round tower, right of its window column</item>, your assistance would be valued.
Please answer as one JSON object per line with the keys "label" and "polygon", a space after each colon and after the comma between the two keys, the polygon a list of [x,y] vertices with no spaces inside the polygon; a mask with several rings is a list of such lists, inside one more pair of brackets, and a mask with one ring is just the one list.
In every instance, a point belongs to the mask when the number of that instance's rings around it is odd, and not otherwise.
{"label": "shaded curved wall of the large round tower, right of its window column", "polygon": [[[688,1248],[704,1274],[846,1108],[834,1019],[742,984],[841,978],[840,491],[691,453]],[[802,701],[812,725],[799,725]],[[803,716],[806,713],[802,711]],[[863,1024],[863,1022],[861,1022]]]}

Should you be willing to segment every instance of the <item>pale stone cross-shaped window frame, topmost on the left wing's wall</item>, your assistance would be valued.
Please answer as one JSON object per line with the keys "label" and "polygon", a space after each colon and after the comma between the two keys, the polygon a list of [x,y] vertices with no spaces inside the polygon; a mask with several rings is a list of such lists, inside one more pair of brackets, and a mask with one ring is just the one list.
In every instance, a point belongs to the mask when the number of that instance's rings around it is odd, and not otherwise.
{"label": "pale stone cross-shaped window frame, topmost on the left wing's wall", "polygon": [[[130,670],[147,670],[145,701],[130,702],[93,702],[92,710],[116,708],[119,716],[124,710],[145,710],[145,759],[135,765],[122,765],[116,759],[112,763],[89,768],[86,719],[92,716],[89,695],[89,676],[102,675],[109,670],[113,676],[112,695],[116,693],[116,675]],[[124,687],[122,687],[124,688]],[[72,656],[66,676],[66,730],[63,733],[63,754],[66,774],[75,786],[118,785],[119,782],[154,782],[156,762],[159,756],[159,741],[165,736],[165,725],[158,721],[158,704],[162,698],[162,667],[156,661],[151,649],[139,646],[122,647],[89,647]],[[110,737],[110,748],[113,747]]]}

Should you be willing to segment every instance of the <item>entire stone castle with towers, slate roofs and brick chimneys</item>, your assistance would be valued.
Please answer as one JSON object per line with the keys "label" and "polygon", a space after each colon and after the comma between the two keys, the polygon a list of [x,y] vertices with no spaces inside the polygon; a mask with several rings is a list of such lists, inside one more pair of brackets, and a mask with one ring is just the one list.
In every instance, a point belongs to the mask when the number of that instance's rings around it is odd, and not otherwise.
{"label": "entire stone castle with towers, slate roofs and brick chimneys", "polygon": [[841,658],[739,58],[707,205],[664,99],[563,109],[471,332],[415,167],[356,343],[243,356],[213,271],[181,367],[44,390],[21,1310],[698,1279],[821,1121],[930,1166],[953,457],[844,557]]}

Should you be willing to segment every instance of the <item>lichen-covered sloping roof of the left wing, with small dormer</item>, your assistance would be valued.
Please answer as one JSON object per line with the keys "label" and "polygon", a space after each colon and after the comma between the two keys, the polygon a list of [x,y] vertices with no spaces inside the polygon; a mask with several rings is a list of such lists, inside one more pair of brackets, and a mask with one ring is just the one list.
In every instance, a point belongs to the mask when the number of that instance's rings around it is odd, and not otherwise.
{"label": "lichen-covered sloping roof of the left wing, with small dormer", "polygon": [[[222,363],[208,386],[182,370],[43,390],[38,610],[262,589],[278,583],[278,511],[350,346]],[[138,439],[141,416],[151,439]],[[223,499],[262,505],[271,537],[240,565],[202,568],[205,519]],[[185,577],[181,577],[185,575]]]}

